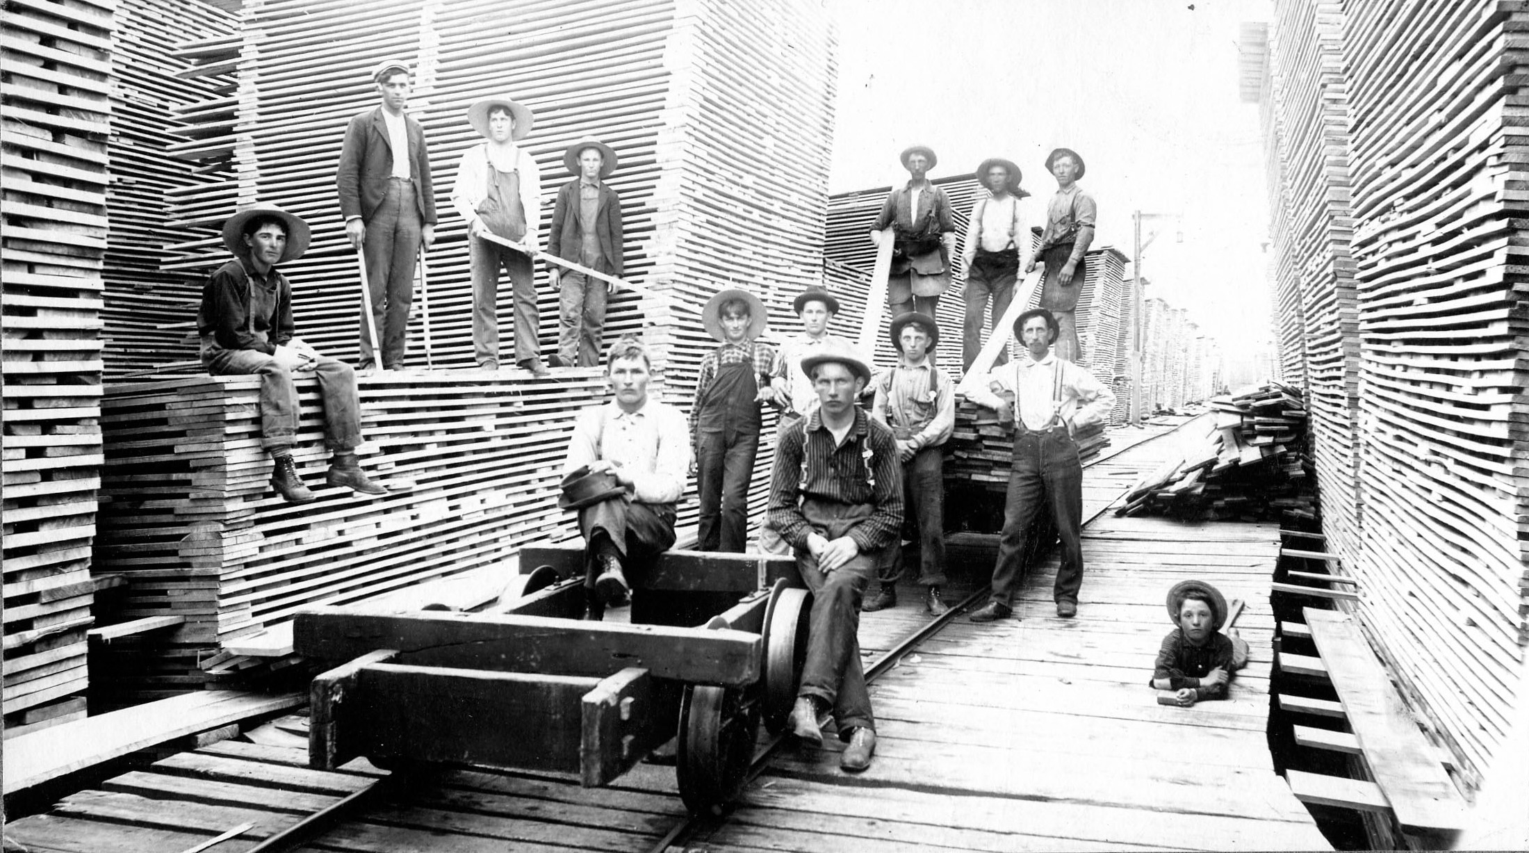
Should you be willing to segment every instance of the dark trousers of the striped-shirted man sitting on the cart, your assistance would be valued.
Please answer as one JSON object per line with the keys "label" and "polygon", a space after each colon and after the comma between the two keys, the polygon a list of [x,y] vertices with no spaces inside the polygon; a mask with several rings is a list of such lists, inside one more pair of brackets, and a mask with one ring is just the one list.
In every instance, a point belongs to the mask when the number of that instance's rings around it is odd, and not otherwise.
{"label": "dark trousers of the striped-shirted man sitting on the cart", "polygon": [[[813,530],[835,540],[868,518],[872,508],[807,498],[801,512]],[[865,671],[859,662],[859,605],[879,563],[879,550],[859,553],[833,572],[823,573],[818,558],[806,546],[797,549],[797,569],[812,590],[807,662],[801,670],[797,696],[812,696],[833,708],[841,740],[856,726],[876,728],[870,692],[865,691]]]}

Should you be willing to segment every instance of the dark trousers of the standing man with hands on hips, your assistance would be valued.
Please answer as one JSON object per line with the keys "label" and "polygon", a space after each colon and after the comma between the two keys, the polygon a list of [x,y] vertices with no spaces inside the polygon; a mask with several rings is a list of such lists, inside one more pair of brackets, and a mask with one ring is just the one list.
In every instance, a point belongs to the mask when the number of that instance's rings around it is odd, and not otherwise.
{"label": "dark trousers of the standing man with hands on hips", "polygon": [[1076,604],[1083,587],[1083,466],[1078,445],[1067,430],[1031,433],[1017,426],[1009,494],[1003,506],[1003,535],[992,569],[992,599],[1014,607],[1024,573],[1024,555],[1032,550],[1031,523],[1050,509],[1061,537],[1061,567],[1052,598]]}

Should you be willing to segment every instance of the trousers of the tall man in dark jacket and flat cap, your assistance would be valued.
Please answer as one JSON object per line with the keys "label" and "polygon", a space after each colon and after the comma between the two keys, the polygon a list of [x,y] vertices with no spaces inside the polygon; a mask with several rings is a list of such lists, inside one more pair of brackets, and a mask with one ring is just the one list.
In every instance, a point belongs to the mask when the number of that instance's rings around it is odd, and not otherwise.
{"label": "trousers of the tall man in dark jacket and flat cap", "polygon": [[[367,286],[372,290],[372,321],[376,324],[382,345],[382,367],[404,367],[404,347],[408,342],[408,309],[414,303],[414,261],[419,258],[419,205],[414,202],[414,185],[393,179],[387,183],[387,196],[367,220],[367,240],[361,255],[367,263]],[[361,367],[372,367],[376,353],[372,352],[372,335],[367,329],[367,313],[361,312]]]}

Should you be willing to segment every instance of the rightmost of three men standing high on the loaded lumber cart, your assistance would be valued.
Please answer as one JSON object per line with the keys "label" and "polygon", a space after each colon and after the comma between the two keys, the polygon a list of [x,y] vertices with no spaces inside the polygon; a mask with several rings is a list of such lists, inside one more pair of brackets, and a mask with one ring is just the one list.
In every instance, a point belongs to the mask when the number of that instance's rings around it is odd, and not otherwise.
{"label": "rightmost of three men standing high on the loaded lumber cart", "polygon": [[1046,264],[1040,306],[1052,312],[1061,329],[1057,338],[1057,358],[1078,361],[1083,349],[1078,344],[1073,310],[1083,290],[1084,258],[1089,245],[1093,243],[1098,206],[1093,203],[1093,196],[1078,186],[1084,165],[1076,151],[1057,148],[1046,157],[1046,171],[1057,179],[1057,194],[1046,206],[1046,229],[1041,231],[1041,243],[1035,249],[1035,257],[1024,264],[1024,272],[1035,269],[1037,263]]}

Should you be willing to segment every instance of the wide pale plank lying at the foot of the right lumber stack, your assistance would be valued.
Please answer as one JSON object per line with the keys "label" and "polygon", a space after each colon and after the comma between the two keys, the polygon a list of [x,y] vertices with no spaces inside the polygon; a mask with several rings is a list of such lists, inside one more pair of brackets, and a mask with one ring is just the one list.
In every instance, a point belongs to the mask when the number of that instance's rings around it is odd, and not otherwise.
{"label": "wide pale plank lying at the foot of the right lumber stack", "polygon": [[1344,613],[1306,608],[1306,624],[1327,665],[1364,760],[1404,832],[1457,832],[1465,799],[1439,766],[1359,624]]}

